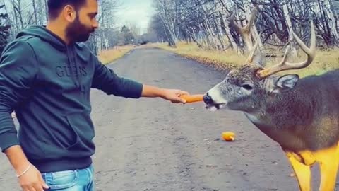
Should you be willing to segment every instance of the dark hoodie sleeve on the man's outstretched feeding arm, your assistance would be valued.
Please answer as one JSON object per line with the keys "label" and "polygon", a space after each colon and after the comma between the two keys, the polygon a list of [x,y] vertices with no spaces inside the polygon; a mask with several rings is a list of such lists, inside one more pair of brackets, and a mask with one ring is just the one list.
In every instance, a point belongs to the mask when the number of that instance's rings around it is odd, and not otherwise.
{"label": "dark hoodie sleeve on the man's outstretched feeding arm", "polygon": [[95,73],[93,77],[93,88],[100,89],[108,95],[121,96],[125,98],[140,98],[143,84],[131,79],[117,76],[112,69],[102,64],[95,57]]}

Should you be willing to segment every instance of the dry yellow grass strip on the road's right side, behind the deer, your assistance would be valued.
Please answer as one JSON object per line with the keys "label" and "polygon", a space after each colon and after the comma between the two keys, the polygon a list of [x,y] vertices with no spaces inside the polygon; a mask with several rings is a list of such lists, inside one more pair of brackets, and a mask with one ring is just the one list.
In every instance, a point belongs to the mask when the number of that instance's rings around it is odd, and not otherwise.
{"label": "dry yellow grass strip on the road's right side, behind the deer", "polygon": [[[224,52],[215,51],[215,50],[203,50],[199,49],[195,43],[179,42],[177,48],[169,47],[167,44],[153,44],[149,45],[153,47],[159,47],[164,50],[169,50],[177,54],[182,55],[190,59],[195,59],[204,64],[212,64],[217,69],[230,69],[232,67],[240,66],[244,64],[246,56],[238,55],[232,50],[227,50]],[[277,57],[267,58],[267,65],[280,62],[285,53],[285,50],[274,50],[274,53]],[[295,59],[295,62],[302,61],[306,58],[304,52],[298,52],[299,57]],[[333,50],[317,50],[316,58],[314,62],[305,69],[300,70],[291,70],[285,71],[285,73],[296,73],[299,76],[309,76],[309,75],[319,75],[323,74],[326,71],[339,68],[339,49]]]}

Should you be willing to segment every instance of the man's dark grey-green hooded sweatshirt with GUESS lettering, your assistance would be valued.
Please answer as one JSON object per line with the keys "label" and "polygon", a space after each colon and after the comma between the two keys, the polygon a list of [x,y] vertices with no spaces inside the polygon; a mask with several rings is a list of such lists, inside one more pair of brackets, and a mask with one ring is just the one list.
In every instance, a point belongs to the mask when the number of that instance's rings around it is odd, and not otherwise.
{"label": "man's dark grey-green hooded sweatshirt with GUESS lettering", "polygon": [[18,33],[0,59],[1,150],[20,144],[42,173],[88,167],[95,153],[91,88],[140,98],[143,85],[117,76],[88,47],[67,46],[44,26]]}

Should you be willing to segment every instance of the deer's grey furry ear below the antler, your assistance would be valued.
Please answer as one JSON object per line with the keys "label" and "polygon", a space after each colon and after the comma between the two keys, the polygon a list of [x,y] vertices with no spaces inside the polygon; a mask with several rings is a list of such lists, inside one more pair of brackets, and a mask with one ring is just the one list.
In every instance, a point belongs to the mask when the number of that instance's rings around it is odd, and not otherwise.
{"label": "deer's grey furry ear below the antler", "polygon": [[288,74],[281,77],[270,76],[265,81],[265,89],[268,93],[281,93],[290,91],[299,81],[297,74]]}

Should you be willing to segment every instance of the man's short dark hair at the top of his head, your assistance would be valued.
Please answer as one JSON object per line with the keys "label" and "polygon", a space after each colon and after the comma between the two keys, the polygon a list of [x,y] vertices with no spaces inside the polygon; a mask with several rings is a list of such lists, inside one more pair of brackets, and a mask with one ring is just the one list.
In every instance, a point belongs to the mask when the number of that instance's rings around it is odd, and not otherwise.
{"label": "man's short dark hair at the top of his head", "polygon": [[85,2],[86,0],[48,0],[48,16],[50,19],[57,18],[64,6],[71,5],[78,10]]}

